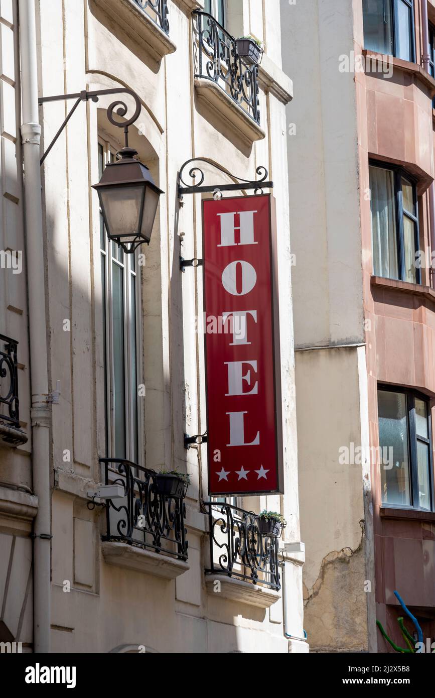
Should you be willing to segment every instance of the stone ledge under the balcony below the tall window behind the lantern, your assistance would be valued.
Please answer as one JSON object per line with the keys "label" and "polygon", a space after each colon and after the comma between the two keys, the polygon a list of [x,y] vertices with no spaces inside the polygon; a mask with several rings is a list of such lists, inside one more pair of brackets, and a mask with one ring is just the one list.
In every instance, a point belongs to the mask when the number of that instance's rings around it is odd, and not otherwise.
{"label": "stone ledge under the balcony below the tall window behind the lantern", "polygon": [[146,572],[162,579],[175,579],[190,569],[184,560],[171,558],[163,553],[154,553],[128,543],[104,540],[101,550],[107,565],[125,567],[135,572]]}

